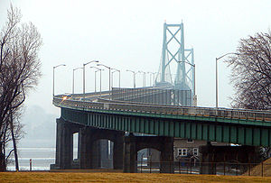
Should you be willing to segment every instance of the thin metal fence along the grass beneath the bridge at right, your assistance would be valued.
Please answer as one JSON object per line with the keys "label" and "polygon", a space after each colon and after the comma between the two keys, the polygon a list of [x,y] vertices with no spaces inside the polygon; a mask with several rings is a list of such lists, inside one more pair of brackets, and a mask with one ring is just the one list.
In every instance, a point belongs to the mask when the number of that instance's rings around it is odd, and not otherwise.
{"label": "thin metal fence along the grass beneath the bridge at right", "polygon": [[151,161],[138,160],[137,173],[210,174],[231,176],[270,176],[271,163]]}

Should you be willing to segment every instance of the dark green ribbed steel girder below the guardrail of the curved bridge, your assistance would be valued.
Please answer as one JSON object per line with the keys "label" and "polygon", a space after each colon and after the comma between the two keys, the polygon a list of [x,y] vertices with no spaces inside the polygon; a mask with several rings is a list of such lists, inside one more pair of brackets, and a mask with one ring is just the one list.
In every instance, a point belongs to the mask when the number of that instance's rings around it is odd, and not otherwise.
{"label": "dark green ribbed steel girder below the guardrail of the curved bridge", "polygon": [[61,107],[61,117],[88,126],[213,142],[271,146],[271,123],[206,116]]}

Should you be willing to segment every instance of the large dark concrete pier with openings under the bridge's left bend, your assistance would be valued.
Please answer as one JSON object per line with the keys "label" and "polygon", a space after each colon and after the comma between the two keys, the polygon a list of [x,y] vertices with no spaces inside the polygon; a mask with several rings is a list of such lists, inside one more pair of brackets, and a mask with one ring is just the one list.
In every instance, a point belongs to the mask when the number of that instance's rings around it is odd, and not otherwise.
{"label": "large dark concrete pier with openings under the bridge's left bend", "polygon": [[[78,160],[73,160],[73,133],[79,133]],[[86,127],[57,119],[56,160],[51,169],[98,169],[101,160],[108,159],[107,142],[114,142],[113,169],[123,168],[124,132]],[[102,151],[102,145],[107,149]],[[102,156],[104,154],[104,156]],[[105,155],[107,154],[107,156]],[[108,160],[106,160],[108,161]],[[105,161],[105,162],[106,162]]]}

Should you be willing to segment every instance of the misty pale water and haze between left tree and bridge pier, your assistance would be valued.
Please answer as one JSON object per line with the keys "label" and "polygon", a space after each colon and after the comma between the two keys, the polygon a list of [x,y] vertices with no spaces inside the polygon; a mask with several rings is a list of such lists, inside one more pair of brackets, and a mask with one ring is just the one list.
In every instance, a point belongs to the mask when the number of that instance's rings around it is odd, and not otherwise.
{"label": "misty pale water and haze between left tree and bridge pier", "polygon": [[[19,169],[29,170],[32,159],[33,170],[49,170],[55,161],[55,114],[48,114],[38,106],[27,106],[23,114],[22,124],[24,137],[18,142]],[[11,146],[7,149],[10,151]],[[14,154],[7,166],[8,170],[15,170]]]}

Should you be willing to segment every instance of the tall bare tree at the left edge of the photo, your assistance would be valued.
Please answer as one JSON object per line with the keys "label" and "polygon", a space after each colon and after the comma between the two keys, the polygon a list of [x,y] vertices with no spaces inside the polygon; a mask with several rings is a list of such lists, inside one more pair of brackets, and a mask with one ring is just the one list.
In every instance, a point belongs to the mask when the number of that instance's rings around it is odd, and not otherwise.
{"label": "tall bare tree at the left edge of the photo", "polygon": [[11,115],[18,112],[27,92],[41,77],[41,35],[33,23],[20,23],[21,17],[20,10],[11,5],[0,32],[0,171],[6,167],[6,142],[16,133],[11,128],[20,126],[14,125]]}

